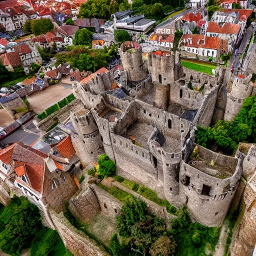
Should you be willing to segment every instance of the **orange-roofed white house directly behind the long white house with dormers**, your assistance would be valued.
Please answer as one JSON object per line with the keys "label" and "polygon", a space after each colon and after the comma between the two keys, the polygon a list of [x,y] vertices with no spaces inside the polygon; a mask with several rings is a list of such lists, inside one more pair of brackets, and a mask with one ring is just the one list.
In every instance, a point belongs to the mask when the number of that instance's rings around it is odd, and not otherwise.
{"label": "orange-roofed white house directly behind the long white house with dormers", "polygon": [[220,39],[228,40],[229,49],[238,41],[241,36],[241,25],[234,23],[224,23],[222,26],[216,22],[208,22],[206,36],[217,36]]}

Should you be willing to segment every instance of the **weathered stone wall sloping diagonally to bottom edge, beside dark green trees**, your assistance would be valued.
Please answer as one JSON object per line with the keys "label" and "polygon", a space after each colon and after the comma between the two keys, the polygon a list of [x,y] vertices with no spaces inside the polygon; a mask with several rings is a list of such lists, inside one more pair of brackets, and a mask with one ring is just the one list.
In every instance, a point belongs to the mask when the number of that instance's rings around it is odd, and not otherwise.
{"label": "weathered stone wall sloping diagonally to bottom edge, beside dark green trees", "polygon": [[64,217],[63,212],[56,213],[51,210],[50,216],[65,247],[74,256],[109,256],[109,254],[99,248],[96,242],[89,238],[87,234],[71,225]]}

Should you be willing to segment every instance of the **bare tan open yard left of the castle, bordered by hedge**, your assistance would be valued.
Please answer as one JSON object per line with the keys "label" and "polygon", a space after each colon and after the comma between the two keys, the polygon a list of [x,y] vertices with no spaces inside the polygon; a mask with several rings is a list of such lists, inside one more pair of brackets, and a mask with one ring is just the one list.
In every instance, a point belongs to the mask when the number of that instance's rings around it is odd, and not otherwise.
{"label": "bare tan open yard left of the castle, bordered by hedge", "polygon": [[60,99],[72,93],[71,88],[65,88],[60,83],[50,85],[44,90],[39,90],[27,97],[32,109],[36,114],[42,112],[45,108],[56,103]]}

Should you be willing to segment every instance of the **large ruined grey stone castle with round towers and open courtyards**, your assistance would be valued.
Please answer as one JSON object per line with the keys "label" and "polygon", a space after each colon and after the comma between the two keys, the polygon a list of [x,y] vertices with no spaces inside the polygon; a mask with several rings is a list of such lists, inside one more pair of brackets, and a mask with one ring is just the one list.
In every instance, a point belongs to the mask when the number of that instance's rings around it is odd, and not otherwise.
{"label": "large ruined grey stone castle with round towers and open courtyards", "polygon": [[[244,154],[237,150],[230,157],[196,145],[194,132],[197,125],[208,127],[226,116],[221,103],[226,70],[218,66],[209,75],[182,67],[171,51],[145,58],[131,41],[122,43],[120,56],[118,88],[112,89],[113,70],[95,73],[83,84],[71,77],[73,94],[84,105],[71,114],[81,164],[105,152],[118,175],[174,206],[186,204],[204,225],[221,225],[244,171]],[[189,157],[192,150],[196,157]]]}

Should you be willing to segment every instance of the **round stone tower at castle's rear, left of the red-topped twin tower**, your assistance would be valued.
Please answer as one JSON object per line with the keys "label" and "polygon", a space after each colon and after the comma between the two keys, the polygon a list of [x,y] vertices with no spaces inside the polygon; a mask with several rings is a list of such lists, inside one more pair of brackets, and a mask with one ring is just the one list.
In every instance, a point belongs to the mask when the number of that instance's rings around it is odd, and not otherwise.
{"label": "round stone tower at castle's rear, left of the red-topped twin tower", "polygon": [[146,77],[143,68],[142,49],[136,42],[125,41],[121,44],[120,55],[123,69],[129,82],[137,82]]}

